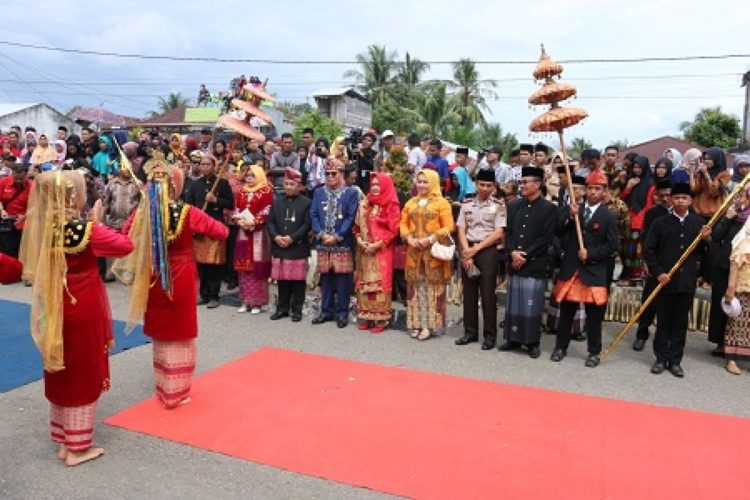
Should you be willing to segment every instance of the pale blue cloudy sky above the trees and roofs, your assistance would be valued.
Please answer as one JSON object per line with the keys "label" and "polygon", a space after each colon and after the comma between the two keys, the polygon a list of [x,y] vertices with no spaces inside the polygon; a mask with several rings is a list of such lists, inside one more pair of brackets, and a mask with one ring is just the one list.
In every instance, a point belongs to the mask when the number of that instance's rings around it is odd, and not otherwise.
{"label": "pale blue cloudy sky above the trees and roofs", "polygon": [[[295,61],[353,61],[368,45],[385,45],[426,61],[536,61],[540,43],[556,60],[750,54],[750,9],[741,0],[526,2],[126,1],[92,6],[38,0],[3,7],[0,102],[46,102],[65,112],[74,105],[104,106],[144,117],[159,96],[194,99],[199,85],[225,90],[234,76],[268,78],[279,100],[309,102],[312,93],[347,85],[354,64],[219,63],[124,59],[15,47],[3,42],[102,52]],[[49,13],[41,22],[38,13]],[[22,22],[32,15],[33,23]],[[29,29],[33,25],[34,29]],[[578,89],[571,106],[589,118],[566,130],[596,147],[615,140],[638,143],[679,135],[679,125],[704,107],[742,117],[741,75],[750,57],[675,62],[563,64],[562,81]],[[527,98],[538,87],[533,64],[480,64],[494,79],[498,99],[488,121],[522,142],[544,109]],[[449,64],[433,64],[426,78],[450,78]]]}

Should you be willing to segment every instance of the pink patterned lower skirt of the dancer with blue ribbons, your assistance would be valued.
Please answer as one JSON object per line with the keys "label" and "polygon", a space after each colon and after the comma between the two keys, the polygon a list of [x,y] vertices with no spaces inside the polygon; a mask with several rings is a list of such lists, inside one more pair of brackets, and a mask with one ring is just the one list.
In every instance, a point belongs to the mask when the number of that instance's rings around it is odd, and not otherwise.
{"label": "pink patterned lower skirt of the dancer with blue ribbons", "polygon": [[190,394],[195,372],[195,339],[154,340],[153,346],[156,396],[172,409]]}

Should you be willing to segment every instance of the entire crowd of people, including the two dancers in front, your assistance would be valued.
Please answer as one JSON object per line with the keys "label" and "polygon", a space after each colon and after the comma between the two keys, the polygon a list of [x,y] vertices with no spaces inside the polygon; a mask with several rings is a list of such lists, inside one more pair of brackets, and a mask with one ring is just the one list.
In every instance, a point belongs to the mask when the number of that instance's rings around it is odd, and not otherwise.
{"label": "entire crowd of people, including the two dancers in front", "polygon": [[[312,324],[338,328],[347,327],[354,296],[359,330],[375,334],[392,326],[393,301],[401,301],[409,335],[426,341],[445,330],[447,286],[458,277],[457,345],[481,338],[483,350],[538,358],[546,329],[557,335],[553,362],[571,340],[586,340],[585,366],[594,368],[612,287],[642,285],[645,300],[661,283],[633,348],[644,349],[656,318],[651,371],[676,377],[704,286],[713,353],[733,374],[750,358],[750,190],[707,225],[750,172],[748,156],[730,171],[718,148],[620,160],[608,146],[568,158],[569,178],[566,159],[542,143],[521,144],[506,163],[498,147],[472,157],[437,138],[387,130],[353,143],[305,129],[296,144],[291,134],[260,143],[212,129],[146,131],[130,140],[64,127],[51,142],[14,127],[1,141],[0,274],[33,287],[52,438],[69,465],[101,454],[91,447],[93,414],[109,384],[101,347],[112,338],[101,282],[116,278],[131,289],[129,325],[144,323],[154,340],[156,392],[168,409],[190,401],[196,301],[218,307],[223,284],[238,289],[238,312],[292,322],[302,320],[306,286],[317,286]],[[65,320],[34,321],[55,312]]]}

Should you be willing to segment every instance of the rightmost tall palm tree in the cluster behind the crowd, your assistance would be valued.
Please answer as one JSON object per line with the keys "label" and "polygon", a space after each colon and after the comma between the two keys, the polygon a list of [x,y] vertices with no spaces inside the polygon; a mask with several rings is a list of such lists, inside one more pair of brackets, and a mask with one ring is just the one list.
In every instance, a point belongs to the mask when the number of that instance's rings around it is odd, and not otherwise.
{"label": "rightmost tall palm tree in the cluster behind the crowd", "polygon": [[456,90],[454,96],[458,101],[461,124],[486,126],[484,112],[491,113],[487,99],[497,99],[497,94],[491,90],[497,87],[497,82],[480,80],[476,63],[471,59],[459,59],[453,63],[453,80],[450,85]]}

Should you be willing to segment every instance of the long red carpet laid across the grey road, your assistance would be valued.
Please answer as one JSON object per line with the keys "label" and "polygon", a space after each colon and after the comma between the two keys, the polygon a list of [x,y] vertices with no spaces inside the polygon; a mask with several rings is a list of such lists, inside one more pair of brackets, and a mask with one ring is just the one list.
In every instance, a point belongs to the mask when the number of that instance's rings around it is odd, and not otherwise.
{"label": "long red carpet laid across the grey road", "polygon": [[415,498],[750,496],[747,419],[278,349],[107,422]]}

